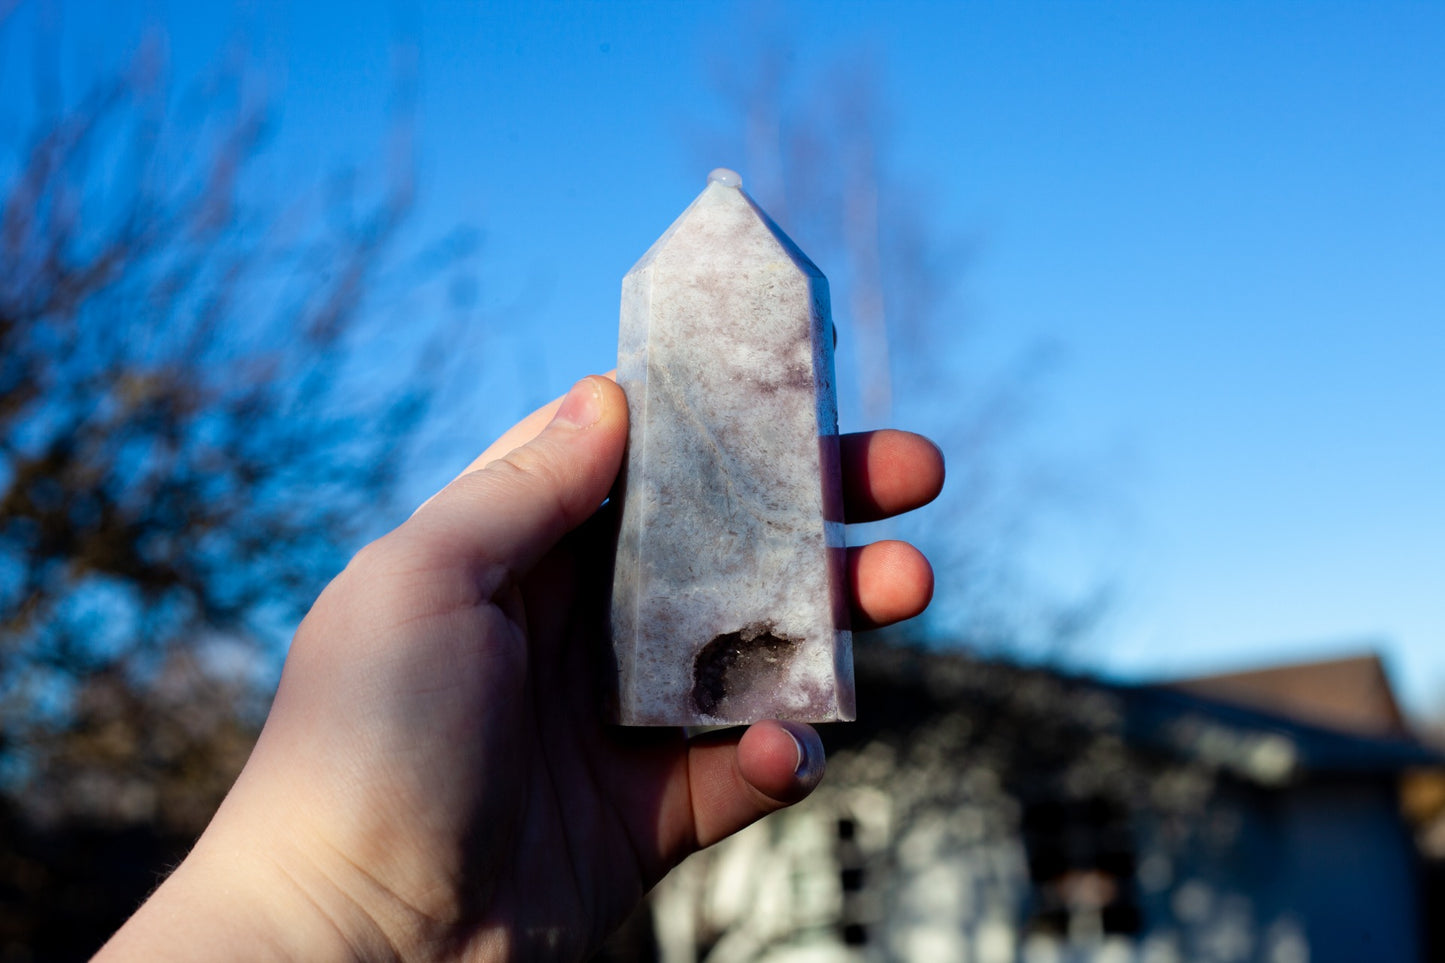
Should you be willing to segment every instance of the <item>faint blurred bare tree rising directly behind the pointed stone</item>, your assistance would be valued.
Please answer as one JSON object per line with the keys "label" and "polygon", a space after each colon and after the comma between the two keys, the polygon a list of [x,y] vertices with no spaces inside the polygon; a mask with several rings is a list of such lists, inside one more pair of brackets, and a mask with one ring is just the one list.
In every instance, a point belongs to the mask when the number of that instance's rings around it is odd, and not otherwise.
{"label": "faint blurred bare tree rising directly behind the pointed stone", "polygon": [[854,385],[841,399],[844,421],[871,428],[903,415],[948,454],[948,487],[928,528],[900,522],[939,574],[929,636],[1055,652],[1094,625],[1107,596],[1053,597],[1027,571],[1035,526],[1077,495],[1068,473],[1025,444],[1052,353],[1027,346],[996,370],[972,361],[957,299],[971,244],[938,223],[931,192],[897,169],[879,58],[857,48],[809,69],[785,33],[766,22],[757,32],[773,39],[743,59],[714,58],[731,120],[699,143],[707,162],[744,171],[759,204],[828,275],[840,382]]}

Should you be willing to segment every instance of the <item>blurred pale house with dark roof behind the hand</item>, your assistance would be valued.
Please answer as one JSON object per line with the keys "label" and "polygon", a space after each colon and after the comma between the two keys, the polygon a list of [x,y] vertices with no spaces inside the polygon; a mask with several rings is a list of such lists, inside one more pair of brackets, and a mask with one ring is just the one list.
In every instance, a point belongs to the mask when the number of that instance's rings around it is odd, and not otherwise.
{"label": "blurred pale house with dark roof behind the hand", "polygon": [[1445,758],[1374,656],[1111,685],[861,648],[806,804],[653,896],[666,963],[1436,959]]}

